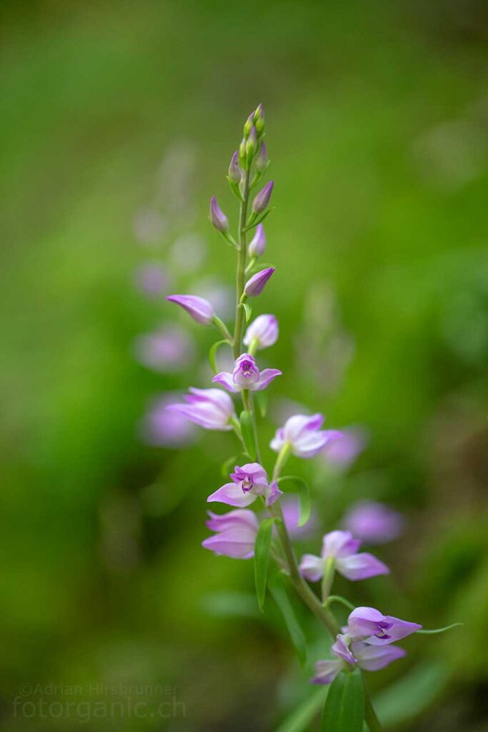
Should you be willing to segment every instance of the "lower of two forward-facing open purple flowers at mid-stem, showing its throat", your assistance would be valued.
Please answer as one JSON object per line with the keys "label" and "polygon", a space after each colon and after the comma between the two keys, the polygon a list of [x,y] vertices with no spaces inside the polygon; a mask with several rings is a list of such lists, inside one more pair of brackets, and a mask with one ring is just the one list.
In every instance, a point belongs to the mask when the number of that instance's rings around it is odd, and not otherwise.
{"label": "lower of two forward-facing open purple flowers at mid-stem, showing its throat", "polygon": [[268,474],[259,463],[246,463],[241,467],[236,466],[235,472],[230,474],[233,482],[225,483],[207,498],[207,502],[219,501],[245,508],[250,506],[258,496],[266,498],[266,506],[271,506],[282,496],[276,481],[271,485],[268,482]]}

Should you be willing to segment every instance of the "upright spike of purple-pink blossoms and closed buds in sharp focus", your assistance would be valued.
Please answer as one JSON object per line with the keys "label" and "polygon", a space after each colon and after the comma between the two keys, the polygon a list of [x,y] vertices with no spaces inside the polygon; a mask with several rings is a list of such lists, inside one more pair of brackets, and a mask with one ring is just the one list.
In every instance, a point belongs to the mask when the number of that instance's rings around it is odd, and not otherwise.
{"label": "upright spike of purple-pink blossoms and closed buds in sharp focus", "polygon": [[[318,619],[323,621],[334,638],[331,647],[334,658],[319,661],[316,675],[312,679],[317,684],[329,684],[348,668],[375,671],[402,657],[405,651],[394,646],[394,641],[416,632],[421,626],[393,616],[383,616],[374,608],[356,608],[349,615],[347,627],[341,631],[334,614],[329,610],[329,604],[334,600],[330,593],[336,574],[347,580],[357,581],[389,572],[383,561],[359,550],[361,538],[367,539],[374,533],[371,529],[368,534],[367,526],[380,526],[386,539],[394,537],[399,531],[399,521],[395,531],[392,526],[393,514],[383,512],[380,515],[381,507],[378,504],[375,510],[370,508],[369,520],[364,518],[363,506],[362,519],[357,512],[355,515],[349,514],[346,517],[345,530],[329,531],[323,537],[320,556],[304,554],[299,564],[295,559],[290,536],[299,537],[300,530],[312,514],[302,506],[299,510],[296,502],[290,504],[289,496],[283,496],[280,486],[285,485],[287,480],[287,485],[289,482],[296,482],[296,478],[282,475],[285,465],[294,458],[313,460],[316,456],[320,456],[320,460],[347,465],[363,449],[364,438],[354,430],[324,430],[323,414],[293,413],[285,419],[285,423],[279,427],[269,444],[271,450],[277,453],[274,467],[267,469],[260,457],[259,415],[255,399],[259,397],[257,392],[267,389],[277,376],[282,376],[277,368],[263,368],[257,362],[257,354],[261,356],[261,352],[273,346],[279,337],[275,315],[258,315],[249,325],[245,325],[252,315],[248,300],[253,299],[252,305],[255,305],[255,299],[263,294],[274,275],[273,266],[257,264],[266,250],[263,221],[270,212],[269,203],[274,184],[265,184],[254,198],[251,194],[252,189],[260,184],[269,165],[263,140],[264,130],[265,116],[263,106],[259,105],[244,124],[244,136],[239,149],[233,153],[228,168],[230,190],[239,200],[241,209],[236,236],[231,233],[229,218],[214,196],[210,202],[210,220],[215,231],[237,253],[238,286],[233,329],[228,329],[216,308],[201,296],[175,294],[167,298],[169,302],[181,307],[196,323],[217,329],[223,339],[214,343],[210,351],[210,361],[214,367],[211,382],[216,386],[211,388],[211,384],[207,384],[208,388],[203,389],[192,387],[183,401],[169,405],[167,410],[168,413],[187,419],[206,430],[235,433],[244,459],[229,461],[234,467],[232,472],[225,471],[228,481],[219,488],[215,486],[215,490],[207,498],[210,503],[226,504],[233,507],[233,510],[220,515],[209,512],[206,526],[214,533],[204,539],[203,547],[217,555],[233,559],[251,559],[255,555],[258,558],[264,551],[271,553],[279,569],[289,575],[300,597]],[[247,236],[252,230],[252,239],[247,242]],[[215,354],[223,344],[227,344],[232,351],[233,367],[228,371],[218,371],[215,367]],[[279,381],[285,379],[286,375]],[[253,509],[249,508],[251,506]],[[255,512],[256,506],[260,507],[260,512]],[[263,520],[263,513],[267,514],[267,524]],[[312,517],[310,525],[312,522],[316,525],[318,517]],[[268,530],[270,521],[274,523],[275,534],[271,533],[271,528]],[[363,527],[362,535],[361,531],[356,533],[354,528],[348,529],[358,526]],[[263,540],[258,551],[256,546],[261,535],[265,534],[266,542]],[[262,571],[260,567],[263,565],[267,572],[267,561],[256,562],[257,589],[258,572]],[[307,580],[312,583],[321,581],[320,600],[307,586]],[[262,602],[260,591],[262,595],[263,585],[266,588],[266,574],[259,584],[261,590],[258,589],[258,599]]]}

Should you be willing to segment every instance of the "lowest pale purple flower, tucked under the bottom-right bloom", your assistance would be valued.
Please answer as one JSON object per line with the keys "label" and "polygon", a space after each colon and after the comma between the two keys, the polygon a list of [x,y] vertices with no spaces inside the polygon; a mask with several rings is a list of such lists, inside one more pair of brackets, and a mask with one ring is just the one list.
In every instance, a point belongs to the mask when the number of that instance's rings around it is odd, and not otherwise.
{"label": "lowest pale purple flower, tucked under the bottom-right bloom", "polygon": [[[347,646],[345,648],[347,649]],[[380,668],[385,668],[406,655],[406,651],[399,646],[368,646],[361,641],[352,643],[347,652],[342,646],[337,646],[336,641],[332,651],[338,658],[318,661],[315,664],[312,684],[331,684],[341,671],[348,668],[348,665],[357,664],[364,671],[379,671]]]}

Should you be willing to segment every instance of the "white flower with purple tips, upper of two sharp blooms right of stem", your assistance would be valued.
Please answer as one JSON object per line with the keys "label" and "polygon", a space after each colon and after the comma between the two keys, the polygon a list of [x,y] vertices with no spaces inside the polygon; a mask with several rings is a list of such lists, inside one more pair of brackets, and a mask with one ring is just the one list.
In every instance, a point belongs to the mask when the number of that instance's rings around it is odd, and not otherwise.
{"label": "white flower with purple tips, upper of two sharp blooms right of stem", "polygon": [[297,458],[313,458],[331,440],[342,437],[342,433],[337,430],[320,430],[323,419],[322,414],[312,414],[311,417],[296,414],[290,417],[271,440],[271,449],[279,452],[288,444],[290,452]]}

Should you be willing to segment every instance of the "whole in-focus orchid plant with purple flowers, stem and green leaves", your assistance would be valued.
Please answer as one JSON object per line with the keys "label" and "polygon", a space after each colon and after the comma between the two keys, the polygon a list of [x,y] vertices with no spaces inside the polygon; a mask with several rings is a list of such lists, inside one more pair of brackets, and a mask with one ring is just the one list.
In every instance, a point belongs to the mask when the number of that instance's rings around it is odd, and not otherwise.
{"label": "whole in-focus orchid plant with purple flowers, stem and green leaves", "polygon": [[[338,430],[323,430],[322,414],[296,414],[277,430],[271,441],[270,447],[277,454],[274,466],[266,468],[261,458],[258,417],[264,414],[258,410],[257,399],[259,392],[272,388],[274,379],[282,376],[277,368],[260,369],[257,362],[258,352],[277,341],[277,318],[271,314],[258,315],[249,324],[252,317],[249,299],[260,296],[274,275],[273,267],[258,264],[266,250],[263,221],[271,210],[274,183],[266,183],[256,195],[252,193],[269,166],[264,136],[265,116],[263,105],[259,105],[244,124],[244,137],[228,169],[230,190],[239,199],[240,207],[236,238],[230,234],[228,217],[216,198],[212,197],[210,203],[211,223],[237,255],[236,315],[232,332],[206,299],[191,294],[168,297],[198,324],[215,327],[222,335],[209,354],[215,373],[214,386],[190,387],[184,403],[167,408],[206,430],[232,431],[239,441],[240,464],[236,464],[237,458],[228,461],[228,482],[216,487],[207,498],[212,504],[225,504],[232,510],[223,514],[209,512],[207,526],[213,534],[203,541],[203,547],[233,559],[254,557],[260,608],[263,609],[268,588],[303,658],[304,638],[288,600],[288,590],[295,589],[331,638],[331,657],[316,662],[315,676],[311,679],[314,684],[330,685],[323,729],[361,732],[366,722],[370,732],[378,732],[381,725],[364,685],[363,671],[377,671],[404,656],[405,650],[395,643],[421,632],[421,624],[383,614],[376,608],[354,608],[348,600],[331,594],[336,574],[356,582],[387,574],[389,569],[372,554],[361,552],[361,541],[350,531],[329,532],[323,537],[320,556],[305,554],[297,560],[281,501],[281,486],[288,482],[299,492],[299,526],[304,526],[311,512],[309,492],[301,479],[284,474],[288,458],[291,455],[304,460],[314,458],[332,444],[339,445],[346,436]],[[250,234],[253,236],[248,242]],[[228,346],[232,351],[231,371],[217,370],[215,361],[221,346]],[[251,506],[260,507],[260,511],[252,510]],[[271,561],[277,567],[272,576]],[[312,589],[318,582],[320,594]],[[334,602],[342,602],[350,609],[345,627],[340,627],[331,610]]]}

